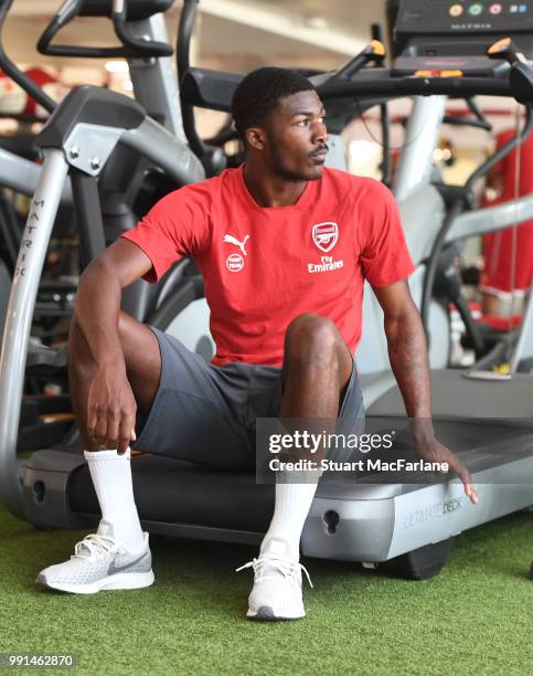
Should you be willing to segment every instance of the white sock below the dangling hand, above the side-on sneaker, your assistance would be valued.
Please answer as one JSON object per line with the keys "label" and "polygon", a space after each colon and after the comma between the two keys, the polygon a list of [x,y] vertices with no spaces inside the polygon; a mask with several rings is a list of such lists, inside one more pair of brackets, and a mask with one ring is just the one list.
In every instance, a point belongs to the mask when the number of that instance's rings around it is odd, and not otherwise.
{"label": "white sock below the dangling hand, above the side-on sneaker", "polygon": [[141,551],[145,539],[134,499],[130,450],[122,455],[116,451],[85,451],[84,455],[102,509],[98,532],[110,529],[127,549]]}

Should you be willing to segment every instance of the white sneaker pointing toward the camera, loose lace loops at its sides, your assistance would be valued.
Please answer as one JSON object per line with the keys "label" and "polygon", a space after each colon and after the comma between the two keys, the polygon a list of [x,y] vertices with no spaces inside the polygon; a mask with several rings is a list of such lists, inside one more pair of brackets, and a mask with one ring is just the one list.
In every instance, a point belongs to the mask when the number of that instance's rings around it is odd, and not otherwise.
{"label": "white sneaker pointing toward the camera, loose lace loops at its sides", "polygon": [[266,551],[258,559],[248,561],[239,570],[254,569],[254,587],[248,596],[250,620],[299,620],[306,616],[301,594],[301,571],[309,573],[298,561]]}

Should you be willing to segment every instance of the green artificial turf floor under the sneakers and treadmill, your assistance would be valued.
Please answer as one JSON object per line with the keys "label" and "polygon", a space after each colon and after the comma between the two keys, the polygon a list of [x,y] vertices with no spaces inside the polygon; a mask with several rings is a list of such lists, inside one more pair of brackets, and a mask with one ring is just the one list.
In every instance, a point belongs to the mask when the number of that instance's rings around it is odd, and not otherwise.
{"label": "green artificial turf floor under the sneakers and treadmill", "polygon": [[0,508],[0,652],[72,653],[76,674],[533,674],[533,514],[456,538],[425,582],[308,559],[308,616],[286,623],[244,619],[252,573],[234,569],[255,548],[228,543],[153,538],[156,584],[143,590],[36,588],[83,535],[36,531]]}

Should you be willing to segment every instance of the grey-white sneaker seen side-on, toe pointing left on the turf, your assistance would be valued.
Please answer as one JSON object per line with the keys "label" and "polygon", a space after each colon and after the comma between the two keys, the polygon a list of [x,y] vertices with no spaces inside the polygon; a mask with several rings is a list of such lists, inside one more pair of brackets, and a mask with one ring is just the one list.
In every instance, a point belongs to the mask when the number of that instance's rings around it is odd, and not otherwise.
{"label": "grey-white sneaker seen side-on, toe pointing left on the turf", "polygon": [[70,561],[41,571],[38,584],[73,594],[95,594],[107,589],[140,589],[153,582],[148,532],[142,551],[129,552],[111,534],[88,535],[77,542]]}

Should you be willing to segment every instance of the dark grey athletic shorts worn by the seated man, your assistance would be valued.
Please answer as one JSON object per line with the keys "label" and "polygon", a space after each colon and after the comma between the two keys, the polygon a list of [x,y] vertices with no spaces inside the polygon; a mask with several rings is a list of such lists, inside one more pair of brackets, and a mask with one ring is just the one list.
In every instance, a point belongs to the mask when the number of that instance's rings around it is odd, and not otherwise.
{"label": "dark grey athletic shorts worn by the seated man", "polygon": [[[279,414],[281,369],[209,365],[177,338],[151,330],[161,352],[161,381],[150,414],[138,420],[132,448],[213,469],[255,469],[256,419]],[[363,427],[354,365],[335,433],[361,434]]]}

